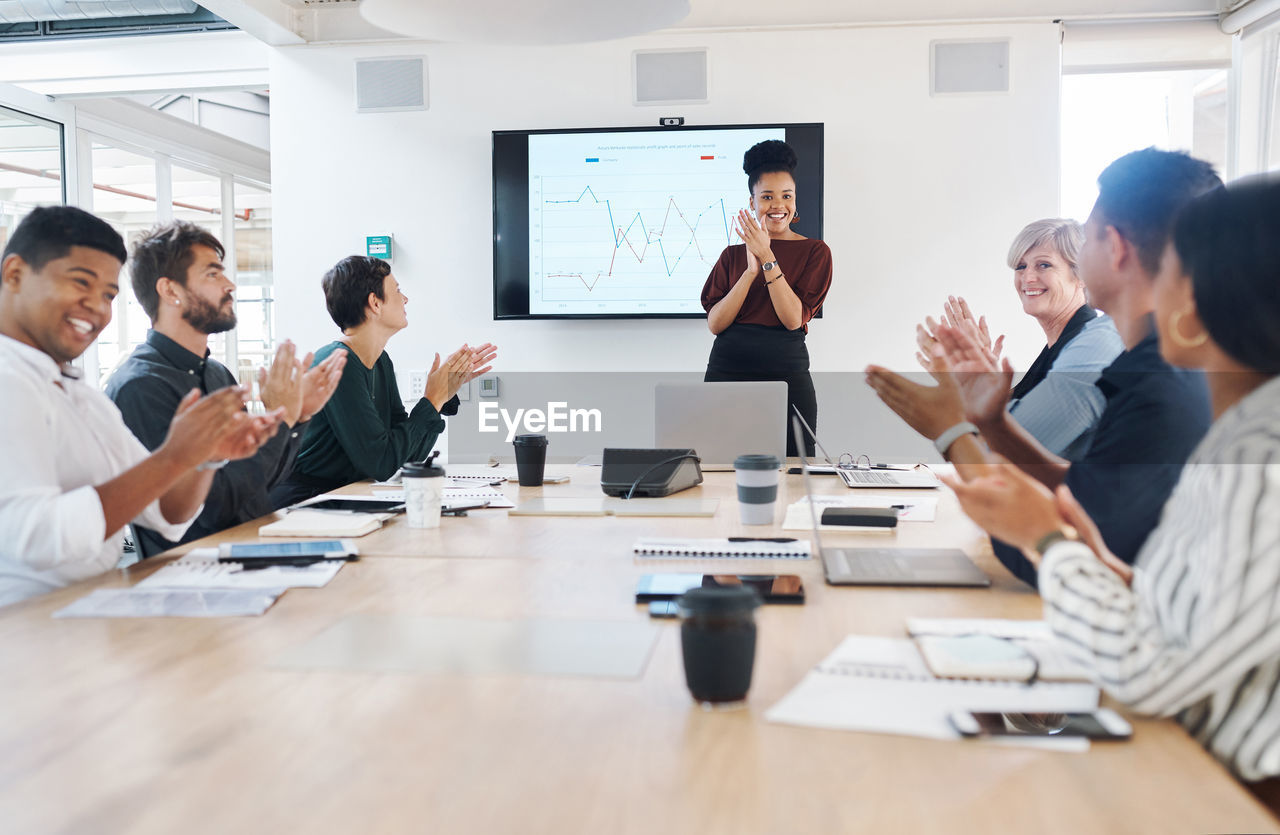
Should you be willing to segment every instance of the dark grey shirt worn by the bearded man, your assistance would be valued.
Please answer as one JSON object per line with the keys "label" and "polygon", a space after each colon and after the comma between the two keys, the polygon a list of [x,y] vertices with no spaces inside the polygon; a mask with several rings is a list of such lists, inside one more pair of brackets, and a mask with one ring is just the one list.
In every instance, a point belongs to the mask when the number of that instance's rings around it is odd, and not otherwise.
{"label": "dark grey shirt worn by the bearded man", "polygon": [[[124,423],[147,450],[155,450],[169,434],[178,402],[192,388],[204,393],[234,385],[236,377],[218,360],[196,356],[169,337],[147,332],[147,341],[134,348],[106,382],[110,397]],[[275,437],[250,458],[232,461],[214,474],[205,508],[187,529],[182,542],[225,530],[271,511],[266,494],[289,474],[297,457],[301,426],[280,426]],[[134,525],[138,552],[150,557],[179,544],[148,528]]]}

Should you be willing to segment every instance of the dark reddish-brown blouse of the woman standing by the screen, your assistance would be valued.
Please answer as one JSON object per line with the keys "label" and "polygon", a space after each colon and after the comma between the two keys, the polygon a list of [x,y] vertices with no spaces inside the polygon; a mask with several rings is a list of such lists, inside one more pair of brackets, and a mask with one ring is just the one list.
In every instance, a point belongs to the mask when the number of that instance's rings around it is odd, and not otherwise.
{"label": "dark reddish-brown blouse of the woman standing by the screen", "polygon": [[[801,238],[799,241],[769,241],[769,248],[778,259],[778,268],[786,278],[787,284],[804,309],[803,328],[809,333],[809,320],[822,306],[831,288],[831,248],[817,238]],[[737,280],[746,270],[746,245],[724,247],[719,260],[712,268],[712,274],[703,284],[703,310],[710,311],[716,304],[728,295]],[[751,288],[746,292],[742,309],[737,311],[733,323],[746,323],[755,325],[771,325],[781,328],[782,321],[773,310],[769,300],[769,288],[764,286],[763,273],[756,270],[751,280]]]}

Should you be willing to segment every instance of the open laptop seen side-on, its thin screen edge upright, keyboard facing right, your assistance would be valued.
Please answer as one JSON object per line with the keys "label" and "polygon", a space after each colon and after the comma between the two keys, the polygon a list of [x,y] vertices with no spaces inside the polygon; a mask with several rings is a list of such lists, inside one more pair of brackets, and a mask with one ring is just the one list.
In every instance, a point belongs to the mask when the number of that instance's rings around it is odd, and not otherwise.
{"label": "open laptop seen side-on, its thin screen edge upright, keyboard facing right", "polygon": [[[792,421],[796,419],[792,418]],[[796,421],[799,423],[799,421]],[[800,426],[795,428],[800,435]],[[991,585],[959,548],[824,548],[813,501],[809,462],[800,456],[800,476],[813,524],[813,546],[832,585]]]}

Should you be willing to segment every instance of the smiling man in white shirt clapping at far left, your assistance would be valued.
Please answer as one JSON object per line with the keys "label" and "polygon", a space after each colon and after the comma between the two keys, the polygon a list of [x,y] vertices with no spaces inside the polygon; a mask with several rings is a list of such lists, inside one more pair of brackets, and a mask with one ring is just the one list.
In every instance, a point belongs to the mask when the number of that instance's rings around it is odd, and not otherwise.
{"label": "smiling man in white shirt clapping at far left", "polygon": [[108,571],[137,520],[178,539],[221,462],[275,433],[279,410],[251,418],[228,387],[178,407],[154,452],[70,362],[111,321],[127,254],[81,209],[46,206],[13,232],[0,260],[0,606]]}

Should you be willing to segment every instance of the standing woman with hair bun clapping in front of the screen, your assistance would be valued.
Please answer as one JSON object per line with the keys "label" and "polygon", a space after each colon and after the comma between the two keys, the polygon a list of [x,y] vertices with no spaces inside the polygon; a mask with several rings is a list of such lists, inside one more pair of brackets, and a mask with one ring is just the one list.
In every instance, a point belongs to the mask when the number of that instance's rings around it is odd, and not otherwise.
{"label": "standing woman with hair bun clapping in front of the screen", "polygon": [[[724,247],[703,286],[707,325],[716,334],[708,383],[780,380],[787,411],[800,410],[818,428],[818,397],[809,377],[804,337],[831,287],[831,250],[792,232],[796,220],[796,154],[778,140],[754,145],[742,158],[751,210],[733,229],[742,243]],[[787,455],[797,453],[787,421]],[[804,439],[806,455],[813,442]]]}

